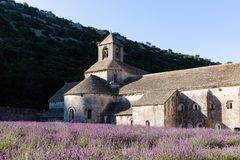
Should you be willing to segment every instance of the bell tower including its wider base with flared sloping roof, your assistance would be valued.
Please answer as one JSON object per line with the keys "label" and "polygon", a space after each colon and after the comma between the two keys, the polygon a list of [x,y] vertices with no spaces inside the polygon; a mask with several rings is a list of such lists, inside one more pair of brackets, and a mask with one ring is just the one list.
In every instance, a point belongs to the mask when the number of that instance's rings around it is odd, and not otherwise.
{"label": "bell tower including its wider base with flared sloping roof", "polygon": [[95,75],[106,81],[112,89],[118,89],[128,78],[145,74],[145,71],[123,62],[123,45],[110,33],[98,44],[98,61],[85,71],[85,78]]}

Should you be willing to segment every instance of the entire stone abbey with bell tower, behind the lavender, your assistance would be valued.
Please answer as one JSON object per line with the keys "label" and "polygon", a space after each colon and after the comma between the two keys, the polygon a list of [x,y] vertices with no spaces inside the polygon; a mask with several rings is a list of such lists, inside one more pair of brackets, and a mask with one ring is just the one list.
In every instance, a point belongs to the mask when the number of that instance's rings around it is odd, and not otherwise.
{"label": "entire stone abbey with bell tower, behind the lavender", "polygon": [[123,62],[110,34],[82,82],[49,99],[47,120],[171,127],[240,128],[240,64],[148,74]]}

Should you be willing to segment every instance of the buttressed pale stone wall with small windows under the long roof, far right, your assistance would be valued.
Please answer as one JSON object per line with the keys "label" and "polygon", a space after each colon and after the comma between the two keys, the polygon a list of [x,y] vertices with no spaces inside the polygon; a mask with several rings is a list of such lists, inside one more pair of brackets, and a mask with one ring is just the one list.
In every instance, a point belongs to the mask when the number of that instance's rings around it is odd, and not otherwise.
{"label": "buttressed pale stone wall with small windows under the long roof, far right", "polygon": [[[231,109],[228,101],[233,102]],[[180,105],[184,110],[180,110]],[[197,105],[199,108],[194,109]],[[239,128],[239,87],[181,91],[178,94],[176,125],[182,127]]]}

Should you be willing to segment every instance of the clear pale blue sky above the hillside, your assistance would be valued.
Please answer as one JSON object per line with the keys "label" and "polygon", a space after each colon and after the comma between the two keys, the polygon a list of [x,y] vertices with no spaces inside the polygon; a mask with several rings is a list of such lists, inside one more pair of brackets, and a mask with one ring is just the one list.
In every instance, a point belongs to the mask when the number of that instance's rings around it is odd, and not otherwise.
{"label": "clear pale blue sky above the hillside", "polygon": [[16,0],[161,49],[240,62],[239,0]]}

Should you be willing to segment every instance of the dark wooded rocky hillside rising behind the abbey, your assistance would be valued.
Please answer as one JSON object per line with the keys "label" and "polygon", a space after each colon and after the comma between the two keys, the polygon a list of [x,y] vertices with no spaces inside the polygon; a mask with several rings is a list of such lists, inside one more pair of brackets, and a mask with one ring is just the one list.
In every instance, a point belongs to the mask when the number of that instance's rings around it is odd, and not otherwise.
{"label": "dark wooded rocky hillside rising behind the abbey", "polygon": [[[26,3],[0,0],[0,104],[45,108],[65,82],[83,79],[107,35]],[[149,72],[216,64],[117,36],[125,45],[125,62]]]}

